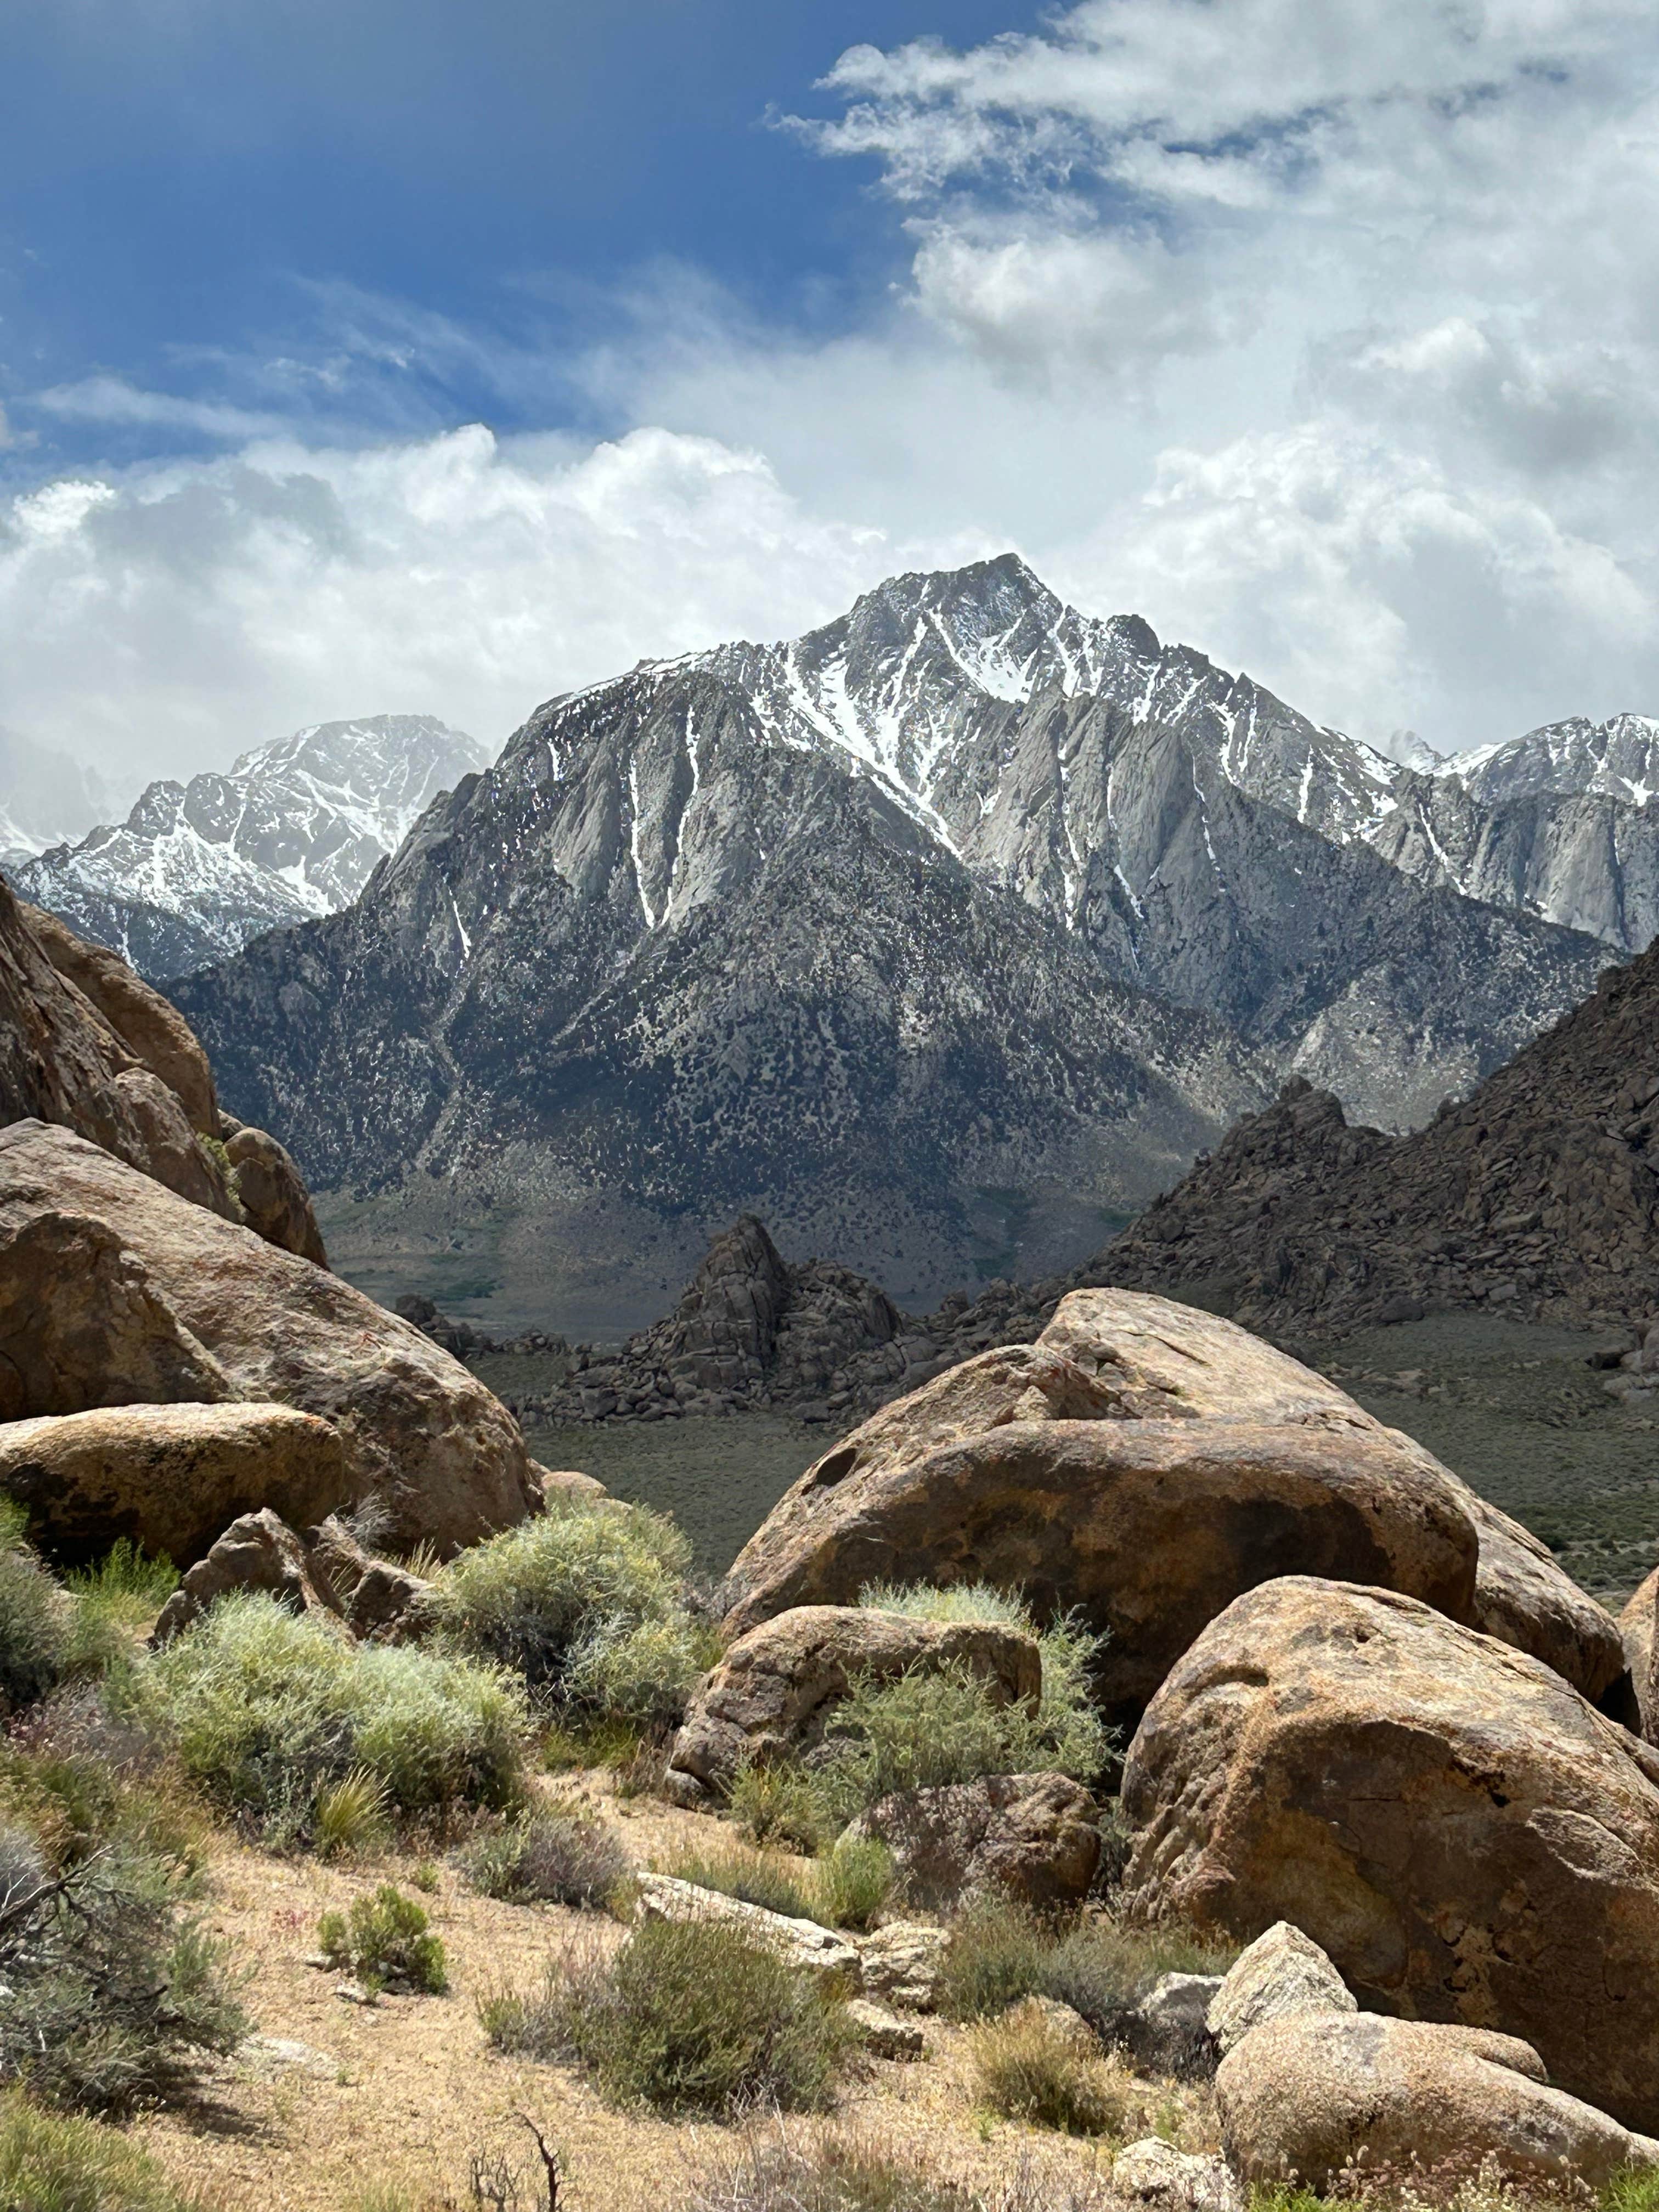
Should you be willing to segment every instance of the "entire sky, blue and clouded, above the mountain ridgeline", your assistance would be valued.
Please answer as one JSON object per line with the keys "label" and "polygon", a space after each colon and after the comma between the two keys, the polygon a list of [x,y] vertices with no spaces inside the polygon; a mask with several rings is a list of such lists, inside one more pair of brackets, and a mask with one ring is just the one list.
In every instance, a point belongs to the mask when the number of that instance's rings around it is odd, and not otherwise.
{"label": "entire sky, blue and clouded, above the mountain ridgeline", "polygon": [[119,796],[1009,546],[1385,748],[1659,712],[1659,27],[9,0],[0,409],[0,737]]}

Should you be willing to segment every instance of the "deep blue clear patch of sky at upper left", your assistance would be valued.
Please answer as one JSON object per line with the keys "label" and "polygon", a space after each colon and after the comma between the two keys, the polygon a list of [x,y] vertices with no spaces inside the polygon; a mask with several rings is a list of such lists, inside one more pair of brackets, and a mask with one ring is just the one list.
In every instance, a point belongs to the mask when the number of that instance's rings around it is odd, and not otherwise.
{"label": "deep blue clear patch of sky at upper left", "polygon": [[[1011,22],[1002,0],[22,0],[0,91],[4,392],[33,434],[13,473],[219,442],[184,411],[31,405],[93,376],[349,434],[626,427],[562,358],[664,265],[847,327],[902,276],[898,221],[872,219],[874,161],[814,161],[770,117],[823,113],[814,80],[858,40]],[[352,299],[365,358],[327,385]],[[378,303],[484,347],[398,367]],[[498,347],[535,358],[491,374]],[[254,387],[254,361],[290,361],[285,387]]]}

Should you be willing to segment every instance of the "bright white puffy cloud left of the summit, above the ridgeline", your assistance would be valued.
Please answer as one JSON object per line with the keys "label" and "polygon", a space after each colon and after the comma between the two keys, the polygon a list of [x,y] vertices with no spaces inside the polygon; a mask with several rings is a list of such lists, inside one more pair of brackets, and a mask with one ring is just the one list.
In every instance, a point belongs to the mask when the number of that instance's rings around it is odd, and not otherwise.
{"label": "bright white puffy cloud left of the summit, above the ridgeline", "polygon": [[7,714],[122,783],[352,712],[500,741],[641,655],[818,622],[909,551],[710,438],[254,445],[0,509]]}

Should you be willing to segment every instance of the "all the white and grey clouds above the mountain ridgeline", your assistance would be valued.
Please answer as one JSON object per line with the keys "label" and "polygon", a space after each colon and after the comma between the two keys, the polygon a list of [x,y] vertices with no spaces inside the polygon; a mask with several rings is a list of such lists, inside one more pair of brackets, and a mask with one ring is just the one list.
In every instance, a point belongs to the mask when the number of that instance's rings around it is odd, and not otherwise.
{"label": "all the white and grey clouds above the mountain ridgeline", "polygon": [[[201,449],[0,509],[0,717],[128,774],[369,710],[500,739],[1006,544],[1371,741],[1659,712],[1646,4],[1084,0],[854,46],[818,106],[779,128],[865,164],[905,272],[834,327],[695,270],[557,338],[533,288],[460,330],[319,285],[188,389],[18,398]],[[608,436],[434,429],[462,361]]]}

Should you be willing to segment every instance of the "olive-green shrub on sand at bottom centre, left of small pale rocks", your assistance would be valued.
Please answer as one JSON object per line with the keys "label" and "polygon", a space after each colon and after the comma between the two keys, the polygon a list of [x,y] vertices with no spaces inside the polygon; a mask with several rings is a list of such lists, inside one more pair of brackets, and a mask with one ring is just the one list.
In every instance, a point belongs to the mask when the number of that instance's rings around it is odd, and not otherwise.
{"label": "olive-green shrub on sand at bottom centre, left of small pale rocks", "polygon": [[615,1958],[582,1944],[529,1997],[480,2004],[502,2051],[582,2059],[615,2104],[730,2117],[823,2106],[852,2046],[845,2006],[708,1920],[650,1920]]}

